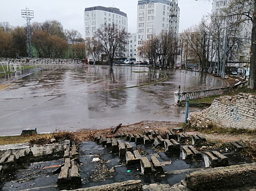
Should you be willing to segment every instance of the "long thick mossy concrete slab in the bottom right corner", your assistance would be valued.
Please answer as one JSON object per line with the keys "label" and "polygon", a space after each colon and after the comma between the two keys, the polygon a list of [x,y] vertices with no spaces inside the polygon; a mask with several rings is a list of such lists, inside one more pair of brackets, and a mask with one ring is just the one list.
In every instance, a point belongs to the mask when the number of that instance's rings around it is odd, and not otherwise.
{"label": "long thick mossy concrete slab in the bottom right corner", "polygon": [[220,190],[256,186],[256,163],[232,165],[192,172],[185,180],[192,190]]}

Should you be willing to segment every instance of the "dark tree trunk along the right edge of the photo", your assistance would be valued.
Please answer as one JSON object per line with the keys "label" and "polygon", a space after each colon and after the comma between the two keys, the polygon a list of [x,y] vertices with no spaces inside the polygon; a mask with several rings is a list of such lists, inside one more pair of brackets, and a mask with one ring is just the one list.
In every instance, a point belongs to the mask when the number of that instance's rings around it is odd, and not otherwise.
{"label": "dark tree trunk along the right edge of the photo", "polygon": [[256,0],[254,0],[249,88],[256,89]]}

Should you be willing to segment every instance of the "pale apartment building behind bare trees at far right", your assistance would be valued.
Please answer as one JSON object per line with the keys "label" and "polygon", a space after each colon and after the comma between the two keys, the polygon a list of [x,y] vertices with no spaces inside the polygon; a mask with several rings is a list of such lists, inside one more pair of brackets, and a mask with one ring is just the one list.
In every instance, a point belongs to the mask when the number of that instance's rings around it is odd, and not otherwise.
{"label": "pale apartment building behind bare trees at far right", "polygon": [[[229,2],[230,0],[213,0],[212,14],[224,14],[225,16],[225,13],[223,13],[223,9],[229,5]],[[244,12],[246,12],[246,8]],[[223,46],[223,50],[221,50],[221,53],[226,53],[227,51],[232,52],[229,53],[229,55],[224,55],[228,56],[227,63],[225,64],[227,65],[227,69],[225,69],[225,71],[223,70],[222,72],[227,72],[227,74],[230,74],[231,70],[235,68],[236,70],[238,70],[238,72],[243,73],[245,69],[244,67],[246,67],[246,65],[249,63],[252,22],[247,20],[241,23],[241,21],[237,20],[238,18],[243,19],[243,17],[237,16],[226,17],[220,27],[220,38],[224,39],[223,44],[226,44],[226,46]],[[234,25],[234,23],[240,23],[240,28],[236,29],[234,26],[237,25]],[[237,31],[236,33],[233,32],[235,30]],[[239,40],[232,41],[232,39]],[[215,55],[214,58],[216,57],[218,58],[218,56]]]}

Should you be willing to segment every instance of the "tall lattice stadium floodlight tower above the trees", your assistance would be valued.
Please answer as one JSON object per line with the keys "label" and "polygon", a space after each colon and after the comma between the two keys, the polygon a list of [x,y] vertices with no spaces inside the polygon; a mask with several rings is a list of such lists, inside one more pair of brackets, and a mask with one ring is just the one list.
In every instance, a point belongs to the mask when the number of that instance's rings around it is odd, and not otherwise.
{"label": "tall lattice stadium floodlight tower above the trees", "polygon": [[29,10],[21,10],[21,16],[27,21],[27,44],[29,45],[29,57],[32,57],[32,46],[31,46],[31,30],[30,30],[30,20],[34,17],[34,11]]}

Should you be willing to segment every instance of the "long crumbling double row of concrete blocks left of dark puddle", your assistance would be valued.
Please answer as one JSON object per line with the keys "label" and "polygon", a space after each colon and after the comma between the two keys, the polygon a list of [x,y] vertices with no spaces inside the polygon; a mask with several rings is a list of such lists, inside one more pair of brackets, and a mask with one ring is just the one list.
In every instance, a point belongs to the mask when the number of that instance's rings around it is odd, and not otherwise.
{"label": "long crumbling double row of concrete blocks left of dark puddle", "polygon": [[79,156],[75,144],[67,147],[64,154],[64,166],[58,177],[58,187],[60,189],[78,188],[82,184],[81,176],[78,172]]}

